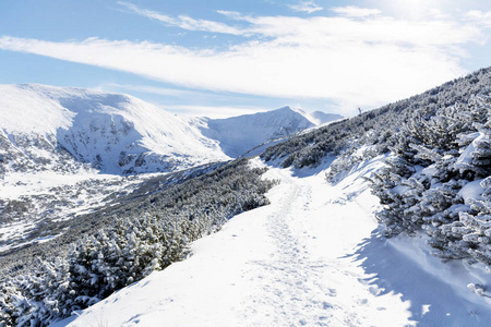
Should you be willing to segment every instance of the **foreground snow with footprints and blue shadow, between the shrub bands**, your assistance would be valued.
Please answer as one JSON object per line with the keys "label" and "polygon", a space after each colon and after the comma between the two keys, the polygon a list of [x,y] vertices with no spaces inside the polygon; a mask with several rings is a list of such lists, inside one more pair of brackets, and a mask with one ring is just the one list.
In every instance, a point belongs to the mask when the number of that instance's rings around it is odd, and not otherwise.
{"label": "foreground snow with footprints and blue shadow, between the shrub bands", "polygon": [[[264,165],[254,159],[254,165]],[[385,240],[359,165],[336,185],[325,169],[272,168],[271,205],[232,218],[193,255],[52,326],[490,326],[483,270],[444,265],[422,238]]]}

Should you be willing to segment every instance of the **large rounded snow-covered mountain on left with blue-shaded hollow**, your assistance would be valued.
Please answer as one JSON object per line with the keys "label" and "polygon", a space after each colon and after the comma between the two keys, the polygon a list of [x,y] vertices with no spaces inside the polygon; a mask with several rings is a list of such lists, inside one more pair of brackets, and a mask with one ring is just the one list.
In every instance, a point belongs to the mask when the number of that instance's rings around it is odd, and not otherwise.
{"label": "large rounded snow-covered mountain on left with blue-shaded hollow", "polygon": [[137,98],[37,84],[0,86],[2,170],[171,171],[228,159],[196,128]]}

